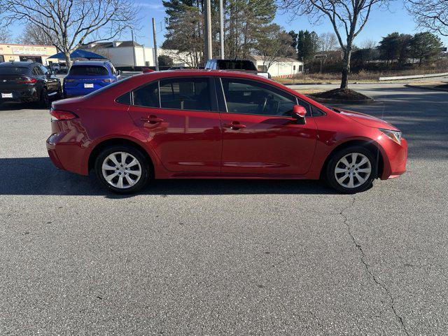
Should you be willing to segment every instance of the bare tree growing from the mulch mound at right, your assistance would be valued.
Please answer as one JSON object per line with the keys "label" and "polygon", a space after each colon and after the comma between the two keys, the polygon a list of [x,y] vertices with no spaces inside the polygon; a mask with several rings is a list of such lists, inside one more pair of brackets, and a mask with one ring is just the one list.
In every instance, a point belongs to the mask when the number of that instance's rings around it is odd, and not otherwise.
{"label": "bare tree growing from the mulch mound at right", "polygon": [[353,41],[363,30],[374,6],[386,6],[388,0],[281,0],[283,8],[298,15],[309,15],[317,22],[330,20],[344,52],[341,88],[348,87]]}

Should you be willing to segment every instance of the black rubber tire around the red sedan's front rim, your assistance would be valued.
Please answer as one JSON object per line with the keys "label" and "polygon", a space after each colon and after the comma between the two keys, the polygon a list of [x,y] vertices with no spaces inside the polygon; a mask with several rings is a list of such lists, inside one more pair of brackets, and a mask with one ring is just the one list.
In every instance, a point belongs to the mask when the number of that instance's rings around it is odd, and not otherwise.
{"label": "black rubber tire around the red sedan's front rim", "polygon": [[[351,162],[351,153],[358,153],[360,155],[356,155],[356,162],[358,164],[363,159],[363,156],[369,160],[369,162],[361,165],[358,167],[355,162],[355,167],[353,167],[353,162]],[[342,158],[346,157],[346,155],[350,155],[349,158],[346,159],[346,161],[350,164],[349,169],[347,172],[340,172],[336,173],[335,170],[338,168],[340,169],[346,169],[346,165],[344,163],[339,162],[339,160],[342,160]],[[338,165],[339,162],[339,165]],[[370,163],[370,167],[369,167]],[[338,167],[336,167],[338,165]],[[342,148],[340,151],[337,151],[332,154],[330,160],[328,161],[328,165],[326,167],[325,172],[325,179],[327,183],[334,188],[335,190],[346,193],[346,194],[356,194],[360,193],[362,191],[365,191],[369,188],[372,188],[373,180],[377,178],[377,154],[372,153],[368,148],[365,148],[363,146],[350,146],[347,148]],[[358,168],[356,168],[358,167]],[[365,172],[357,172],[358,169],[360,170],[368,170],[370,168],[370,175],[367,176],[367,173]],[[351,175],[350,175],[351,173]],[[341,179],[346,178],[342,180],[342,183],[339,183],[337,181],[337,177],[339,178],[339,181]],[[357,177],[359,176],[359,177]],[[360,180],[361,179],[361,180]],[[363,183],[360,183],[362,179],[365,179]],[[350,181],[354,181],[353,188],[348,188],[348,186],[343,186],[342,184],[349,185]],[[359,186],[356,186],[356,184],[360,183]]]}

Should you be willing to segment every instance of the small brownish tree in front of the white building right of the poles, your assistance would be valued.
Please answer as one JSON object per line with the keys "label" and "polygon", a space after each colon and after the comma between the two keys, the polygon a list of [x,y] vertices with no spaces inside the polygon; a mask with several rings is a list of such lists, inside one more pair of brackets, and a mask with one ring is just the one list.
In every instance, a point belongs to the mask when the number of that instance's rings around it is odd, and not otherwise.
{"label": "small brownish tree in front of the white building right of the poles", "polygon": [[260,38],[255,45],[255,52],[262,57],[266,71],[276,62],[280,62],[284,57],[292,57],[295,50],[291,47],[293,38],[276,24],[263,27],[260,31]]}

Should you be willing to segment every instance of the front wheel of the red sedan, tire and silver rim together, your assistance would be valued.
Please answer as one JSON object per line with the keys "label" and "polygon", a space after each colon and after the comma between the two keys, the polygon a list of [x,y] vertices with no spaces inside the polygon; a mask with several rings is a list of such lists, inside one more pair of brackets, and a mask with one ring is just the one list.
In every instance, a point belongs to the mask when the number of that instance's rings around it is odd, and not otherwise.
{"label": "front wheel of the red sedan, tire and silver rim together", "polygon": [[332,155],[326,169],[326,179],[332,188],[342,193],[359,193],[372,187],[377,178],[377,160],[369,149],[350,146]]}

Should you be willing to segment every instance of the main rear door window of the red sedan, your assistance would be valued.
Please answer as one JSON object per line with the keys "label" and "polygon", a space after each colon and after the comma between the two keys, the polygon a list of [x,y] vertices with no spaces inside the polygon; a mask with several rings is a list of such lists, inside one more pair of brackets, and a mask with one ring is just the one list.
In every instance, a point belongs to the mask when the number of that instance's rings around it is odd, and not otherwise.
{"label": "main rear door window of the red sedan", "polygon": [[211,111],[209,78],[160,80],[162,109]]}

